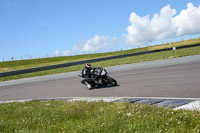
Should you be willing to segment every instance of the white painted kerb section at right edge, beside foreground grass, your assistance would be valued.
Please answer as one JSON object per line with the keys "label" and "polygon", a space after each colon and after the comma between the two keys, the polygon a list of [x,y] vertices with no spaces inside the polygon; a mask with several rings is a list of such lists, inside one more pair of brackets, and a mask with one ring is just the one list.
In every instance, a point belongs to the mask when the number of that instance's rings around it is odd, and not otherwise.
{"label": "white painted kerb section at right edge, beside foreground grass", "polygon": [[194,101],[183,106],[174,108],[174,110],[185,109],[185,110],[200,110],[200,101]]}

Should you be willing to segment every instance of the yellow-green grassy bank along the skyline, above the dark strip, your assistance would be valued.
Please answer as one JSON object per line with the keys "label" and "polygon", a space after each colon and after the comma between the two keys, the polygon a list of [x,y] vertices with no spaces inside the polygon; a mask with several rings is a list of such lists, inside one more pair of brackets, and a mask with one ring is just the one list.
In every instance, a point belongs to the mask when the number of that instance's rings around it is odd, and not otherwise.
{"label": "yellow-green grassy bank along the skyline, above the dark strip", "polygon": [[0,62],[0,72],[55,65],[55,64],[68,63],[68,62],[74,62],[74,61],[80,61],[80,60],[86,60],[86,59],[114,56],[114,55],[123,55],[123,54],[141,52],[141,51],[147,51],[147,50],[192,45],[192,44],[198,44],[198,43],[200,43],[200,38],[174,42],[174,43],[167,43],[167,44],[158,45],[158,46],[151,46],[151,47],[131,49],[131,50],[122,50],[122,51],[115,51],[115,52],[108,52],[108,53],[96,53],[96,54],[85,54],[85,55],[77,55],[77,56],[63,56],[63,57],[53,57],[53,58]]}

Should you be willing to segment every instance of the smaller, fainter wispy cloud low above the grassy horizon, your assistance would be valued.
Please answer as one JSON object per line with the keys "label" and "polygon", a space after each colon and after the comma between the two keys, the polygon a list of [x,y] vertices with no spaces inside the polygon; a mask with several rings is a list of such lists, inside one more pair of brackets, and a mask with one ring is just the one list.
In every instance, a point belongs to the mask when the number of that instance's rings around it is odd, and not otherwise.
{"label": "smaller, fainter wispy cloud low above the grassy horizon", "polygon": [[112,49],[112,47],[116,44],[117,38],[110,38],[109,36],[99,36],[95,35],[93,38],[88,41],[82,41],[78,44],[73,45],[70,50],[66,50],[63,52],[56,51],[55,55],[74,55],[74,54],[82,54],[83,52],[99,52],[104,50]]}

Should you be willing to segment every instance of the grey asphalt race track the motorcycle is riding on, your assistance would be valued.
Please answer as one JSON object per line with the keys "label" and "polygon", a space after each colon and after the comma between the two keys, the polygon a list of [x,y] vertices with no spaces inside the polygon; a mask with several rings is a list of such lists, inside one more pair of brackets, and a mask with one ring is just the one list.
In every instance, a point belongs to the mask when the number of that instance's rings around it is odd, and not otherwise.
{"label": "grey asphalt race track the motorcycle is riding on", "polygon": [[54,97],[200,98],[200,55],[106,68],[119,86],[87,90],[78,72],[0,82],[0,101]]}

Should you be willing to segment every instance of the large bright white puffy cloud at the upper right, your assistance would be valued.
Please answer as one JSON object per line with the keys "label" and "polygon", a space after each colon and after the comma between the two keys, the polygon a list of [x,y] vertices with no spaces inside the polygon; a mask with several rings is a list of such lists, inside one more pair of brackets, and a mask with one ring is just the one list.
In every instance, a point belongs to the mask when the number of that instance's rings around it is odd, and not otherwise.
{"label": "large bright white puffy cloud at the upper right", "polygon": [[170,5],[164,6],[159,14],[154,14],[152,19],[149,15],[138,16],[132,12],[125,35],[129,45],[141,45],[153,40],[163,40],[171,37],[200,33],[200,6],[195,7],[192,3],[187,4],[187,9],[176,15],[176,10]]}

